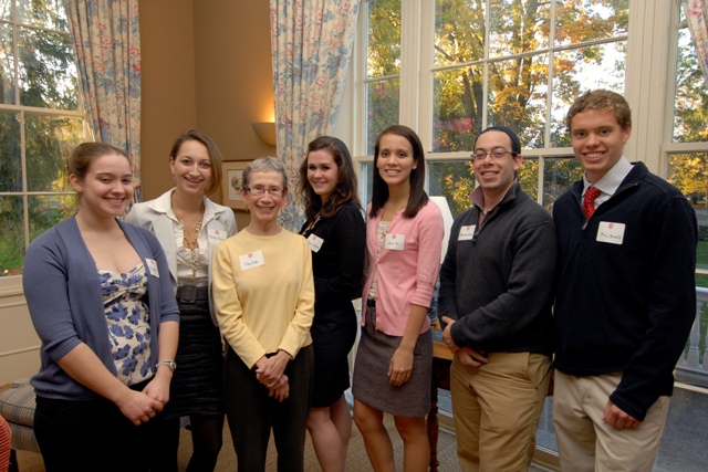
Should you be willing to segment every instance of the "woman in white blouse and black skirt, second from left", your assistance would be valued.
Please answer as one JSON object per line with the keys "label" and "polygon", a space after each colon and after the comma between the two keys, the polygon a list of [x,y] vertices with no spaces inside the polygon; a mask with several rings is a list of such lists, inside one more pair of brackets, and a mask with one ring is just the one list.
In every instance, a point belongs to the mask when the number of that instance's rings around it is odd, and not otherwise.
{"label": "woman in white blouse and black skirt, second from left", "polygon": [[197,130],[183,133],[169,154],[175,187],[137,203],[126,221],[153,231],[165,249],[180,312],[179,347],[165,420],[168,438],[159,445],[176,470],[179,418],[189,417],[194,454],[188,471],[211,471],[222,443],[222,347],[209,295],[211,254],[236,233],[233,211],[209,200],[221,181],[221,154]]}

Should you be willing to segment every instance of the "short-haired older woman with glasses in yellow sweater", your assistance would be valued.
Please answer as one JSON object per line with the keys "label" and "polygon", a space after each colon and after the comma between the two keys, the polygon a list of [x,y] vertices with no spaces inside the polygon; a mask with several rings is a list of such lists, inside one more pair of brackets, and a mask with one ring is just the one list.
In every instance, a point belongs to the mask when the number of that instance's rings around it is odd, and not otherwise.
{"label": "short-haired older woman with glasses in yellow sweater", "polygon": [[240,193],[251,221],[219,244],[212,261],[216,314],[228,343],[226,415],[239,470],[266,470],[272,429],[278,470],[302,471],[314,371],[312,253],[303,237],[278,224],[288,195],[282,162],[256,159]]}

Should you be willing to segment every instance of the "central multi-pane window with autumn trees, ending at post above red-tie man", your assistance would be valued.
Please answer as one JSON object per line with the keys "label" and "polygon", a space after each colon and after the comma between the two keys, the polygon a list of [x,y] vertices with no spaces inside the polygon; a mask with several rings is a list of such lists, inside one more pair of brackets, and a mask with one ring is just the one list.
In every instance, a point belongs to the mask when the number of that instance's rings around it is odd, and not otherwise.
{"label": "central multi-pane window with autumn trees, ending at post above red-tie man", "polygon": [[365,143],[354,148],[371,156],[386,126],[412,125],[429,150],[429,190],[454,214],[469,207],[466,161],[481,129],[518,132],[521,183],[550,209],[581,176],[568,107],[584,90],[624,92],[628,0],[369,0],[363,14]]}

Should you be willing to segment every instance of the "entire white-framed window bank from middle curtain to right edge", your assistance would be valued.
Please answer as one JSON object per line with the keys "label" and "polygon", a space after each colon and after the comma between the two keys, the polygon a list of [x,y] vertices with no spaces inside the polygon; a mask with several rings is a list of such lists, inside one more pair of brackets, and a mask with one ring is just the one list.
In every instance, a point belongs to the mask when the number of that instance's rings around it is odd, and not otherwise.
{"label": "entire white-framed window bank from middle curtain to right edge", "polygon": [[[627,157],[676,185],[698,217],[700,319],[687,345],[687,358],[695,361],[679,361],[683,376],[677,375],[670,415],[676,424],[702,428],[705,418],[686,412],[708,401],[708,77],[680,2],[367,0],[362,20],[351,145],[363,202],[371,199],[375,137],[400,123],[416,129],[426,148],[429,195],[445,196],[459,214],[475,188],[468,164],[473,138],[487,126],[507,125],[521,138],[524,191],[551,209],[582,177],[563,123],[571,103],[600,87],[627,97]],[[446,396],[440,391],[439,407],[449,412]],[[554,451],[551,406],[549,398],[537,439],[541,449]],[[667,427],[658,470],[670,470],[681,454],[686,470],[706,469],[699,450],[674,447],[690,441],[686,431]]]}

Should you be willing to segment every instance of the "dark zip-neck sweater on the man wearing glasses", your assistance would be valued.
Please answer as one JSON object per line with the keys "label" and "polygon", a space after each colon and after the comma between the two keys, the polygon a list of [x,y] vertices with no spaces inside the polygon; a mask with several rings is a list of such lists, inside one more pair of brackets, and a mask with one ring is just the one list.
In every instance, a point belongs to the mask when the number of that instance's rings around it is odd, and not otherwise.
{"label": "dark zip-neck sweater on the man wearing glasses", "polygon": [[[458,319],[458,346],[483,353],[553,353],[555,229],[518,182],[477,224],[476,206],[455,219],[440,268],[438,316]],[[471,240],[460,228],[477,225]]]}

